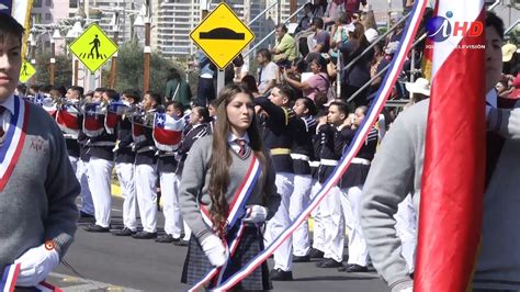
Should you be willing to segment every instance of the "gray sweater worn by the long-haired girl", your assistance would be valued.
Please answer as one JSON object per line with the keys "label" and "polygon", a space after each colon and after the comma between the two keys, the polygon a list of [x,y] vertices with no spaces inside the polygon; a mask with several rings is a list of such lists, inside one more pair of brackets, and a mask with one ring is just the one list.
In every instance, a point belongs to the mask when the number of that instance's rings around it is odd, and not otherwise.
{"label": "gray sweater worn by the long-haired girl", "polygon": [[[212,234],[212,229],[202,220],[199,202],[211,210],[211,198],[207,193],[210,186],[211,168],[210,161],[212,157],[213,136],[199,138],[190,149],[188,159],[182,170],[182,179],[179,187],[179,200],[181,203],[182,216],[193,232],[193,235],[202,242]],[[234,150],[231,150],[231,165],[229,166],[229,188],[226,193],[229,203],[234,194],[246,176],[251,164],[251,155],[242,160]],[[271,161],[271,157],[264,151],[265,158],[269,160],[269,168],[262,166],[260,175],[255,188],[249,196],[247,205],[264,205],[269,210],[269,217],[272,217],[280,205],[280,195],[276,193],[274,184],[275,170]],[[267,202],[262,202],[262,195],[267,193]]]}

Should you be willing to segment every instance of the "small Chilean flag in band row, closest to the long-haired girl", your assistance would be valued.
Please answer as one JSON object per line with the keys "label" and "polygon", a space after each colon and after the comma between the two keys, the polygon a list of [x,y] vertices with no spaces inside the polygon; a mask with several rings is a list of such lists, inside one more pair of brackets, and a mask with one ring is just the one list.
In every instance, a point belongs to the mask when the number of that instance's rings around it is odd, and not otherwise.
{"label": "small Chilean flag in band row, closest to the long-haired girl", "polygon": [[177,150],[184,127],[184,119],[176,119],[166,113],[156,113],[154,119],[154,141],[157,149],[163,151]]}

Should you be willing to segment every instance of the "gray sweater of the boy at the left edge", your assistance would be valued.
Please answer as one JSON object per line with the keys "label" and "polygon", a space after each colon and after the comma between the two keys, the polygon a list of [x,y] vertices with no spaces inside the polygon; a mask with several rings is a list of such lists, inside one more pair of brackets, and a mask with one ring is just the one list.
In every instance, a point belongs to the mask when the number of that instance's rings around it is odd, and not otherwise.
{"label": "gray sweater of the boy at the left edge", "polygon": [[[23,101],[22,101],[23,102]],[[0,271],[23,252],[54,240],[60,258],[72,243],[80,186],[56,122],[32,103],[20,159],[0,192]]]}

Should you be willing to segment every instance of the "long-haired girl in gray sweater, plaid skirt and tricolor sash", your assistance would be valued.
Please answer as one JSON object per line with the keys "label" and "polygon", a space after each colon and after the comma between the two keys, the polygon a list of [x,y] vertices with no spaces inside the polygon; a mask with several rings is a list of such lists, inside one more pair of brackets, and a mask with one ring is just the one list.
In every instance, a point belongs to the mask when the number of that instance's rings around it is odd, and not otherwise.
{"label": "long-haired girl in gray sweater, plaid skirt and tricolor sash", "polygon": [[[230,85],[221,91],[217,104],[215,131],[190,149],[179,190],[182,215],[193,235],[181,281],[191,285],[215,267],[222,267],[225,280],[263,250],[259,225],[280,205],[275,171],[262,146],[252,94],[242,86]],[[251,176],[257,179],[242,186]],[[224,243],[233,246],[230,237],[238,228],[244,231],[241,239],[229,256]],[[204,285],[215,287],[218,278],[217,273]],[[234,289],[272,289],[267,263]]]}

